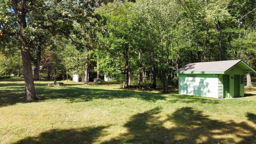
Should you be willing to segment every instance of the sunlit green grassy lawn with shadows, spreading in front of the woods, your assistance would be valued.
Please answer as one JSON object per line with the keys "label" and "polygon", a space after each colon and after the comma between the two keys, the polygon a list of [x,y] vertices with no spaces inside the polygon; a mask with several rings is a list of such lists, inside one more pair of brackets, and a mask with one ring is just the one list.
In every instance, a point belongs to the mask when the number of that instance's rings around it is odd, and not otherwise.
{"label": "sunlit green grassy lawn with shadows, spreading in front of the woods", "polygon": [[256,88],[218,100],[177,90],[119,89],[120,84],[35,82],[38,100],[24,101],[24,80],[0,80],[0,143],[256,143]]}

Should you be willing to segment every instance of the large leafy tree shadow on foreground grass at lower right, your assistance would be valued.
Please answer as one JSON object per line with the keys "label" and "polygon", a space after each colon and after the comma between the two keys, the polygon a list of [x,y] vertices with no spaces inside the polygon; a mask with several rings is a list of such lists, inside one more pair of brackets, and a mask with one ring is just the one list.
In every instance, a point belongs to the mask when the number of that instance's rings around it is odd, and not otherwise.
{"label": "large leafy tree shadow on foreground grass at lower right", "polygon": [[177,109],[165,120],[158,116],[160,112],[161,108],[154,108],[132,116],[124,125],[128,132],[104,144],[256,143],[256,129],[246,122],[212,120],[190,107]]}

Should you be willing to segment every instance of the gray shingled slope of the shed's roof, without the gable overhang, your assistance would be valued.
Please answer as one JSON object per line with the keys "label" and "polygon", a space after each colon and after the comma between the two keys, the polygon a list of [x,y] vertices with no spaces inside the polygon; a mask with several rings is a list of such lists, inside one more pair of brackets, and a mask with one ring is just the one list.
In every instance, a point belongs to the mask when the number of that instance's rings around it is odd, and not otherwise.
{"label": "gray shingled slope of the shed's roof, without the gable overhang", "polygon": [[225,60],[216,62],[190,63],[180,68],[175,73],[221,73],[232,68],[242,60]]}

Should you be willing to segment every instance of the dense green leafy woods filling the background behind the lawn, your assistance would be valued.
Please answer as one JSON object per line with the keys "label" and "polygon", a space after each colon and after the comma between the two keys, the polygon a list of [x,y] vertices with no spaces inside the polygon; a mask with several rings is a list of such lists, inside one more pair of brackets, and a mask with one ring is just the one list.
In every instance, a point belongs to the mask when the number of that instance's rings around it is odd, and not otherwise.
{"label": "dense green leafy woods filling the background behind the lawn", "polygon": [[84,84],[98,71],[168,92],[188,63],[242,59],[255,69],[255,47],[256,0],[0,2],[0,75],[23,75],[26,100],[36,99],[33,80],[75,72]]}

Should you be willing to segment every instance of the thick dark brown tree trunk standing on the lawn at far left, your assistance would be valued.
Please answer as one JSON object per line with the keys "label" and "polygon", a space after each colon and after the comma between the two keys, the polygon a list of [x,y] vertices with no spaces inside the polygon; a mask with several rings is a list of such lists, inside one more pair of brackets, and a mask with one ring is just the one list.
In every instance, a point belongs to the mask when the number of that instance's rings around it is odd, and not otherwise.
{"label": "thick dark brown tree trunk standing on the lawn at far left", "polygon": [[36,90],[32,76],[31,54],[23,32],[23,29],[27,27],[25,10],[26,0],[20,0],[19,2],[17,0],[11,0],[11,5],[19,25],[18,39],[20,40],[21,47],[26,100],[36,100]]}

